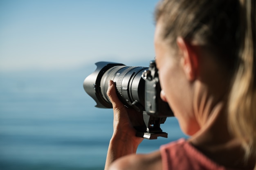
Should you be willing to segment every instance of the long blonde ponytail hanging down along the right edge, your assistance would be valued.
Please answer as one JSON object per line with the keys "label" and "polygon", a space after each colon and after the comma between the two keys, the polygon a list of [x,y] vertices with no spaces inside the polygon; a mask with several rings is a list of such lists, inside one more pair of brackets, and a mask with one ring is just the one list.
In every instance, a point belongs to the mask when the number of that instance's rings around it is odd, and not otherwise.
{"label": "long blonde ponytail hanging down along the right edge", "polygon": [[229,126],[242,141],[245,158],[256,155],[255,8],[255,0],[240,0],[240,49],[228,107]]}

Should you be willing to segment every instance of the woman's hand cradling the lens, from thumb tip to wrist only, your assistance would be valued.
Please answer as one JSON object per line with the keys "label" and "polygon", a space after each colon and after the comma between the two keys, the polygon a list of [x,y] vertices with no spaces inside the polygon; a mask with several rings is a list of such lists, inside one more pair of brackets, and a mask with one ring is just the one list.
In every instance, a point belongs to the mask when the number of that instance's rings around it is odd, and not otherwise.
{"label": "woman's hand cradling the lens, from thumb tip to wrist only", "polygon": [[143,138],[136,136],[136,130],[133,127],[144,125],[142,112],[137,112],[132,108],[124,106],[117,97],[113,81],[109,81],[107,94],[112,102],[114,112],[113,137],[122,141],[132,142],[133,145],[139,145]]}

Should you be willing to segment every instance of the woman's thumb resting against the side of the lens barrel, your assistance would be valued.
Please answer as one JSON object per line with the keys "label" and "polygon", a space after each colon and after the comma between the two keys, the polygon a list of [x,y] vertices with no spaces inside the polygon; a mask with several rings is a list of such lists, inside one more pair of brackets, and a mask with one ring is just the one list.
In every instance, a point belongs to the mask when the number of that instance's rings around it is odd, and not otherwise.
{"label": "woman's thumb resting against the side of the lens barrel", "polygon": [[119,108],[119,107],[124,107],[124,104],[121,103],[119,100],[117,93],[116,93],[116,88],[115,88],[115,83],[110,80],[108,82],[108,91],[107,95],[112,103],[113,109]]}

